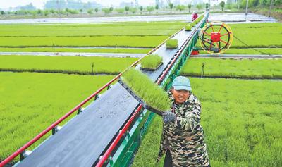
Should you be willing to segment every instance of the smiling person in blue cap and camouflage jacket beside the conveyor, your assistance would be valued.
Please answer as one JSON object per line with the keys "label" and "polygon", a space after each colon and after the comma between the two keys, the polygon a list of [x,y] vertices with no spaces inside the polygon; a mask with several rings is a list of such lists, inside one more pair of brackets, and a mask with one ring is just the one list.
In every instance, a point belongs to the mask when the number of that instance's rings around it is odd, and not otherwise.
{"label": "smiling person in blue cap and camouflage jacket beside the conveyor", "polygon": [[163,113],[163,132],[157,162],[166,154],[164,167],[210,167],[204,131],[200,125],[201,104],[191,92],[190,80],[179,76],[168,92],[171,111]]}

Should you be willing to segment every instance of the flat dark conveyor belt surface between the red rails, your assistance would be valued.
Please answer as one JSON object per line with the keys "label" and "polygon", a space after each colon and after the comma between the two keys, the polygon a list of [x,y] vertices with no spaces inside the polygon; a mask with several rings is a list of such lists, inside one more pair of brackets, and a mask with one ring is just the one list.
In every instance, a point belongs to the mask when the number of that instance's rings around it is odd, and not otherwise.
{"label": "flat dark conveyor belt surface between the red rails", "polygon": [[[181,46],[191,33],[192,31],[182,30],[173,38],[178,39],[178,45]],[[154,54],[162,56],[164,64],[154,72],[142,72],[152,80],[157,80],[178,49],[161,46]],[[37,147],[30,156],[17,163],[17,166],[92,166],[136,106],[137,101],[116,83],[82,113],[66,123],[59,132]]]}

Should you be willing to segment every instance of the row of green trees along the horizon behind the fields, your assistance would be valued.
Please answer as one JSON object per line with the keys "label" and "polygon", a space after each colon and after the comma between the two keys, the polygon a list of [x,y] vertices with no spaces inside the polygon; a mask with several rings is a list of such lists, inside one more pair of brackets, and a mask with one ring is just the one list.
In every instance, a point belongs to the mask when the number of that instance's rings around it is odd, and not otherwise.
{"label": "row of green trees along the horizon behind the fields", "polygon": [[[282,8],[282,0],[248,0],[248,6],[249,8],[269,8],[270,5],[272,5],[272,8]],[[272,1],[272,4],[271,4]],[[247,4],[247,0],[238,0],[238,3],[231,3],[231,0],[228,0],[227,3],[224,1],[221,1],[219,5],[213,6],[214,8],[218,7],[221,8],[221,11],[224,11],[225,8],[231,9],[231,8],[238,8],[238,9],[244,9]],[[191,8],[197,8],[197,10],[202,10],[203,8],[207,8],[208,4],[178,4],[175,5],[173,3],[168,3],[168,6],[164,8],[159,8],[158,5],[156,6],[125,6],[123,8],[114,8],[113,6],[108,8],[80,8],[80,9],[73,9],[73,8],[60,8],[58,10],[57,8],[45,8],[45,9],[36,9],[32,7],[32,4],[27,5],[29,9],[21,8],[17,11],[0,11],[1,16],[56,16],[56,15],[78,15],[78,14],[88,14],[92,15],[94,13],[98,13],[99,11],[102,11],[105,15],[109,13],[120,13],[120,14],[136,14],[139,13],[142,15],[142,13],[147,12],[151,14],[153,11],[158,13],[159,11],[164,10],[170,10],[170,13],[173,11],[179,11],[180,13],[184,10],[188,10],[188,12],[191,12]],[[89,4],[90,6],[90,4]],[[50,7],[50,6],[49,6]]]}

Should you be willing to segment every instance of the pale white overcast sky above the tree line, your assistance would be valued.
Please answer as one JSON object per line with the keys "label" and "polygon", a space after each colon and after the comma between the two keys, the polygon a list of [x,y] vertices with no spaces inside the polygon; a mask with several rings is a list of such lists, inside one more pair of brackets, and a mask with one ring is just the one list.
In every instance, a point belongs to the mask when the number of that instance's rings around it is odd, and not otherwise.
{"label": "pale white overcast sky above the tree line", "polygon": [[[23,6],[30,3],[32,3],[37,8],[43,8],[45,1],[47,0],[0,0],[0,8]],[[93,0],[82,0],[82,1],[87,2]],[[111,5],[118,6],[118,4],[121,3],[121,1],[134,2],[134,0],[94,0],[94,1],[98,2],[99,4],[102,4],[103,6],[111,6]],[[154,1],[155,0],[138,0],[138,3],[142,6],[147,6],[147,5],[154,5]],[[166,2],[166,0],[163,1]],[[184,2],[185,0],[180,0],[180,1]]]}

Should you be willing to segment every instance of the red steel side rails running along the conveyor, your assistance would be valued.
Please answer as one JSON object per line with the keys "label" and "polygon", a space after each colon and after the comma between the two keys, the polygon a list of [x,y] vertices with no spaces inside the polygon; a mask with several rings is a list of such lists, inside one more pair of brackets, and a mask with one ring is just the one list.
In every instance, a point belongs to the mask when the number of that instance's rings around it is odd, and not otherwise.
{"label": "red steel side rails running along the conveyor", "polygon": [[[184,28],[184,27],[183,27]],[[178,30],[178,32],[180,32],[181,30]],[[171,35],[171,37],[174,37],[175,35],[178,34],[178,32],[176,32],[175,34]],[[164,42],[162,42],[161,44],[159,44],[157,47],[155,47],[154,49],[152,49],[151,51],[149,51],[148,54],[152,54],[152,52],[156,51],[157,49],[159,49],[159,47],[161,47],[168,39],[170,39],[171,37],[168,37],[166,40],[164,40]],[[147,56],[148,54],[146,54],[145,56]],[[145,56],[143,56],[142,58],[144,58]],[[135,66],[138,62],[140,62],[142,60],[142,58],[138,59],[137,61],[135,61],[130,67]],[[129,67],[129,68],[130,68]],[[126,68],[125,70],[128,70],[128,68]],[[124,70],[124,71],[125,71]],[[124,72],[123,71],[123,72]],[[123,73],[122,72],[122,73]],[[113,83],[115,80],[117,80],[118,78],[121,77],[122,73],[119,73],[118,75],[116,75],[115,78],[113,78],[112,80],[110,80],[108,83],[106,83],[106,85],[102,86],[101,88],[99,88],[96,92],[94,92],[93,94],[91,94],[89,97],[87,97],[87,99],[85,99],[84,101],[82,101],[80,104],[78,104],[78,106],[75,106],[75,108],[71,109],[71,111],[69,111],[68,113],[66,113],[64,116],[62,116],[61,118],[59,118],[59,120],[56,120],[52,125],[50,125],[48,128],[46,128],[45,130],[43,130],[42,132],[40,132],[37,136],[35,136],[32,140],[30,140],[29,142],[27,142],[25,145],[23,145],[23,147],[20,147],[20,149],[18,149],[17,151],[15,151],[13,154],[11,154],[10,156],[8,156],[6,159],[4,159],[4,161],[1,161],[0,163],[0,167],[3,167],[4,165],[6,165],[7,163],[9,163],[10,161],[12,161],[14,158],[16,158],[16,156],[18,156],[19,154],[21,154],[23,151],[25,151],[25,149],[27,149],[28,147],[30,147],[32,144],[34,144],[35,142],[37,142],[37,140],[39,140],[41,137],[43,137],[44,135],[47,134],[47,132],[50,132],[53,128],[56,127],[56,125],[59,125],[59,123],[61,123],[63,120],[65,120],[66,118],[68,118],[68,116],[71,116],[72,113],[74,113],[75,111],[77,111],[78,109],[80,109],[81,106],[83,106],[84,104],[86,104],[88,101],[90,101],[93,97],[95,97],[97,94],[99,94],[99,92],[102,92],[102,90],[104,90],[106,87],[109,87],[109,85],[111,85],[111,83]],[[160,80],[159,80],[160,81]],[[158,82],[159,84],[159,82]],[[142,106],[139,104],[139,106],[137,107],[137,109],[135,110],[135,112],[133,113],[133,116],[130,117],[130,119],[128,120],[128,122],[125,124],[125,126],[123,127],[123,129],[121,130],[121,132],[119,132],[118,136],[116,137],[116,139],[114,140],[114,142],[110,145],[109,149],[107,149],[106,153],[104,154],[104,156],[102,156],[102,159],[100,159],[99,163],[97,163],[97,166],[102,166],[104,161],[106,161],[106,159],[108,159],[109,154],[111,154],[111,151],[113,151],[114,147],[116,147],[116,144],[118,144],[118,141],[121,139],[121,137],[123,136],[123,134],[126,132],[126,130],[128,129],[129,125],[132,123],[133,119],[135,118],[135,116],[137,115],[137,113],[140,111],[140,109],[142,109]]]}

